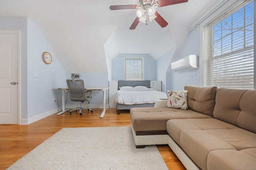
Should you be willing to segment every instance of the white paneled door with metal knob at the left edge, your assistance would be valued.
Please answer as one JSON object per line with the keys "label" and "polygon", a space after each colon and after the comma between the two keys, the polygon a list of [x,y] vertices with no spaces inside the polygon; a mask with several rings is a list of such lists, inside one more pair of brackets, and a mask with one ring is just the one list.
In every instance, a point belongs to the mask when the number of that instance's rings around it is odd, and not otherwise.
{"label": "white paneled door with metal knob at the left edge", "polygon": [[18,123],[19,34],[0,30],[0,124]]}

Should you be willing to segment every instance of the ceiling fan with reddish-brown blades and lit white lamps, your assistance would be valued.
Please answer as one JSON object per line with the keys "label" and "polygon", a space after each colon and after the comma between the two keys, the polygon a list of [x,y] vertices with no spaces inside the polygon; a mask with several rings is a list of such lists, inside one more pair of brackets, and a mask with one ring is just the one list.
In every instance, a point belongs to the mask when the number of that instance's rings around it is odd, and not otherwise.
{"label": "ceiling fan with reddish-brown blades and lit white lamps", "polygon": [[180,4],[188,2],[188,0],[139,0],[139,2],[140,5],[112,5],[110,6],[110,10],[137,9],[137,17],[130,26],[130,29],[135,29],[140,21],[147,25],[148,20],[150,22],[155,20],[163,28],[166,27],[168,23],[156,12],[156,8]]}

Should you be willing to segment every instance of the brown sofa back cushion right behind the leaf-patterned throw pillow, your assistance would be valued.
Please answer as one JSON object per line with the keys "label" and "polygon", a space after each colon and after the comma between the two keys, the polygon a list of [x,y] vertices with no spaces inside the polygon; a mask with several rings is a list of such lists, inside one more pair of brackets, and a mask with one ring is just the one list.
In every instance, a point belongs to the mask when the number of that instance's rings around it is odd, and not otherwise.
{"label": "brown sofa back cushion right behind the leaf-patterned throw pillow", "polygon": [[188,90],[188,109],[213,116],[217,87],[185,86]]}

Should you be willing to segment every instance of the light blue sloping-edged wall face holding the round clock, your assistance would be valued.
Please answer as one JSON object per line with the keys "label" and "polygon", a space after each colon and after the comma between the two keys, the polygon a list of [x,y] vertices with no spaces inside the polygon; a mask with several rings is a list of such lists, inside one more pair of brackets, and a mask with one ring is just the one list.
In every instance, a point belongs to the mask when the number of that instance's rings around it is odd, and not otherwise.
{"label": "light blue sloping-edged wall face holding the round clock", "polygon": [[[65,86],[66,72],[40,28],[30,18],[27,39],[28,118],[31,118],[58,107],[54,99],[61,101],[61,92],[57,88]],[[51,64],[42,60],[45,51],[52,56]],[[34,77],[33,72],[38,72],[38,77]]]}

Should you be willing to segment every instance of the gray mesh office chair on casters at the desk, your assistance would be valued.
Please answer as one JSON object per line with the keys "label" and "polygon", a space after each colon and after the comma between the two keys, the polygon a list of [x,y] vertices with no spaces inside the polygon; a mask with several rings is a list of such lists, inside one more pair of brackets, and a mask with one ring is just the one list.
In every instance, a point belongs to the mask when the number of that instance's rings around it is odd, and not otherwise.
{"label": "gray mesh office chair on casters at the desk", "polygon": [[[88,101],[88,104],[90,103],[89,100],[92,98],[92,90],[84,90],[84,80],[66,80],[68,84],[68,92],[69,92],[69,98],[71,101],[74,102],[80,102],[80,107],[76,107],[76,109],[72,109],[70,111],[70,115],[72,111],[77,111],[79,110],[80,115],[82,115],[81,111],[83,109],[88,109],[90,110],[91,113],[93,113],[92,109],[89,107],[82,107],[82,103],[84,101]],[[86,94],[90,93],[89,96],[86,96]]]}

